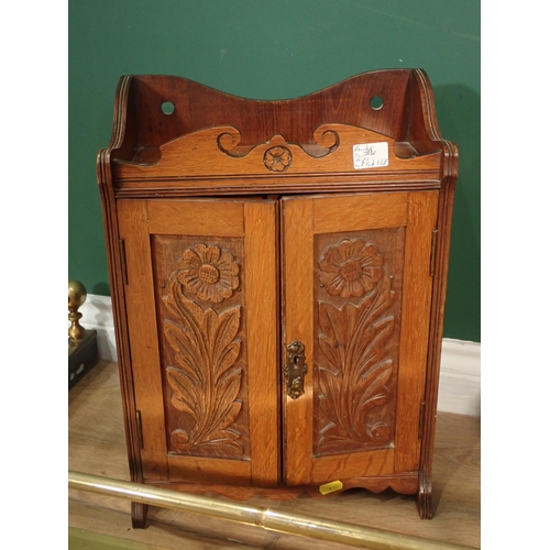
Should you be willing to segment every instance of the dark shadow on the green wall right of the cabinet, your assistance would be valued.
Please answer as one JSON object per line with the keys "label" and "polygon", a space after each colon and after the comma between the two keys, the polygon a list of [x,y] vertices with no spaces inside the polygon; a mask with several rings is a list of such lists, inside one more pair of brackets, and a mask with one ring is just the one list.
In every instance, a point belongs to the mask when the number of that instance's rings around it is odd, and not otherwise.
{"label": "dark shadow on the green wall right of the cabinet", "polygon": [[481,97],[433,87],[439,129],[459,147],[443,336],[481,342]]}

